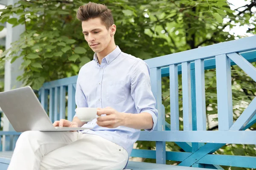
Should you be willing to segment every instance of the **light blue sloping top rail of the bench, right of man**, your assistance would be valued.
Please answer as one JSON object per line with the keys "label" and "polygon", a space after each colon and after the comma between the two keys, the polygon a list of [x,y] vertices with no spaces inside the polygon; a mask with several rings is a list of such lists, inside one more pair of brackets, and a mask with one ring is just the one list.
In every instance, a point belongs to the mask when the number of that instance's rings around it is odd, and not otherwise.
{"label": "light blue sloping top rail of the bench, right of man", "polygon": [[215,56],[221,54],[255,50],[255,42],[256,36],[245,37],[239,40],[221,42],[206,47],[182,51],[179,53],[155,57],[152,59],[146,59],[145,62],[149,65],[150,68],[166,67],[172,64],[195,61],[196,59],[214,58]]}

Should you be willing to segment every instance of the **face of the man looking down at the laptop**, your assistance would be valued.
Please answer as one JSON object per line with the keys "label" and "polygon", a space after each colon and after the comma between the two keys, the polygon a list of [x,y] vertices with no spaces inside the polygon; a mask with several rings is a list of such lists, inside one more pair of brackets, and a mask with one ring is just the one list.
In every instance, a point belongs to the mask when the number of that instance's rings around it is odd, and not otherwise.
{"label": "face of the man looking down at the laptop", "polygon": [[100,18],[82,21],[82,29],[84,39],[95,53],[108,47],[111,41],[111,28],[107,29]]}

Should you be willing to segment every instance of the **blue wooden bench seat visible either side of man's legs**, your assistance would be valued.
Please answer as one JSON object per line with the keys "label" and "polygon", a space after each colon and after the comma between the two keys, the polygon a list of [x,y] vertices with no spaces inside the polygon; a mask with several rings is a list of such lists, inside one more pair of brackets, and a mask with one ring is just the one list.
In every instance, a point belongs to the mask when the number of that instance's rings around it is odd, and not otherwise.
{"label": "blue wooden bench seat visible either side of man's legs", "polygon": [[[13,151],[0,152],[0,170],[7,170]],[[131,170],[210,170],[197,167],[183,167],[177,165],[154,164],[146,162],[129,161],[127,169]]]}

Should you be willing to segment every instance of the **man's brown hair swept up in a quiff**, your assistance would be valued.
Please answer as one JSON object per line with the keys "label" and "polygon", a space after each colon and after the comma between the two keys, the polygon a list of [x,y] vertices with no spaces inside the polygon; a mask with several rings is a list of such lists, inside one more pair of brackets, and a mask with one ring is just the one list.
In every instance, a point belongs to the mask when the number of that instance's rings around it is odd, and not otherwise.
{"label": "man's brown hair swept up in a quiff", "polygon": [[84,6],[80,6],[76,13],[76,17],[80,21],[87,21],[99,17],[106,28],[109,28],[114,24],[111,10],[108,9],[107,6],[98,3],[89,2]]}

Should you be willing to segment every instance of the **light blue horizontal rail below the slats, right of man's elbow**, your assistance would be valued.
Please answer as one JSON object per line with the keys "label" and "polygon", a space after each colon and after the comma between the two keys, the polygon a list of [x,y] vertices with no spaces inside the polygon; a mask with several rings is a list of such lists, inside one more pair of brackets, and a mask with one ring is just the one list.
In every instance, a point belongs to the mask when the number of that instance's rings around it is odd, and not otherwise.
{"label": "light blue horizontal rail below the slats, right of man's elbow", "polygon": [[[239,136],[239,138],[234,138]],[[139,141],[205,142],[256,144],[256,131],[146,131],[140,132]]]}

